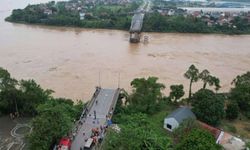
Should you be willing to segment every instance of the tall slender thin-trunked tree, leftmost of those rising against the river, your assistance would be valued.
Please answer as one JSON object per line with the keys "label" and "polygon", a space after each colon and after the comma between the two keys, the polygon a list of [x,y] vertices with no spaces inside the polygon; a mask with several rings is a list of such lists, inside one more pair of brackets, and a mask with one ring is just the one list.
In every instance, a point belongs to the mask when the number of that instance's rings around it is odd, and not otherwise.
{"label": "tall slender thin-trunked tree, leftmost of those rising against the river", "polygon": [[189,95],[188,98],[190,99],[192,96],[192,84],[193,82],[197,82],[199,80],[199,70],[195,67],[195,65],[191,65],[187,72],[184,74],[184,77],[190,79],[189,83]]}

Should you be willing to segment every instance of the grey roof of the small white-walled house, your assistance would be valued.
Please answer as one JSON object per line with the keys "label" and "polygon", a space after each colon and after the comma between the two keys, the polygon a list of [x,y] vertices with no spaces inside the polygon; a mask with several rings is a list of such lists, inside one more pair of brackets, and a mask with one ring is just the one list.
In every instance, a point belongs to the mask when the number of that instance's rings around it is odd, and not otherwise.
{"label": "grey roof of the small white-walled house", "polygon": [[187,118],[196,119],[194,113],[187,107],[180,107],[176,109],[171,114],[169,114],[167,118],[175,118],[179,124]]}

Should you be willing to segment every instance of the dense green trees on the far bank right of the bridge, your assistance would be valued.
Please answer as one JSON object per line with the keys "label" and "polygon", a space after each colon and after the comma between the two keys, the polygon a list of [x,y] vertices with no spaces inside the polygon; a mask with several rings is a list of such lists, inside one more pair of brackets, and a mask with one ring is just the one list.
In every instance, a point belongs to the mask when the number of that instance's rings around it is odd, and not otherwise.
{"label": "dense green trees on the far bank right of the bridge", "polygon": [[233,22],[237,28],[225,25],[208,26],[201,18],[192,16],[163,16],[159,13],[147,14],[143,23],[143,31],[181,32],[181,33],[250,33],[250,24],[245,19],[236,18]]}

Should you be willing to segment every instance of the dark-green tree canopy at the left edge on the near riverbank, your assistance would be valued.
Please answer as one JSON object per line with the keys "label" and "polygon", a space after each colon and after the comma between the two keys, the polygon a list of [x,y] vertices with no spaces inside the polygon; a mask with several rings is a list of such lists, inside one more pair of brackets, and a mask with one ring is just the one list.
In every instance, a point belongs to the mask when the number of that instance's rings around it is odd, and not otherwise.
{"label": "dark-green tree canopy at the left edge on the near riverbank", "polygon": [[49,100],[52,92],[42,89],[34,80],[17,81],[0,68],[0,113],[34,116],[36,107]]}

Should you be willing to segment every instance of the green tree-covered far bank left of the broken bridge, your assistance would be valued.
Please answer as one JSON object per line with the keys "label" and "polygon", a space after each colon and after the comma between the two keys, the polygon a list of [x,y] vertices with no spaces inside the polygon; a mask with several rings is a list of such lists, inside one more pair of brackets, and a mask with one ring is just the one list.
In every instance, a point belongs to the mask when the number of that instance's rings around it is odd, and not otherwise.
{"label": "green tree-covered far bank left of the broken bridge", "polygon": [[47,3],[47,9],[52,10],[52,14],[44,13],[43,7],[39,5],[28,5],[24,9],[15,9],[12,11],[7,21],[45,24],[58,26],[76,26],[85,28],[106,28],[106,29],[129,29],[131,15],[129,12],[135,10],[139,4],[130,3],[122,5],[102,5],[88,8],[89,13],[85,13],[83,20],[80,20],[78,11],[65,8],[66,3]]}

